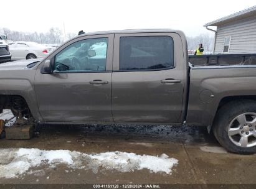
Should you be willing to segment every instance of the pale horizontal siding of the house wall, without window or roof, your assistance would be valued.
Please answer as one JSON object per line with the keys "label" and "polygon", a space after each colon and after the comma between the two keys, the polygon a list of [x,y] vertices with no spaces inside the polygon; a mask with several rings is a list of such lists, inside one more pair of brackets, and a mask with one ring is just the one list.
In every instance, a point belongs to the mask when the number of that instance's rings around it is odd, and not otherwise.
{"label": "pale horizontal siding of the house wall, without window or roof", "polygon": [[214,53],[223,53],[225,36],[231,36],[229,53],[256,53],[256,16],[218,26]]}

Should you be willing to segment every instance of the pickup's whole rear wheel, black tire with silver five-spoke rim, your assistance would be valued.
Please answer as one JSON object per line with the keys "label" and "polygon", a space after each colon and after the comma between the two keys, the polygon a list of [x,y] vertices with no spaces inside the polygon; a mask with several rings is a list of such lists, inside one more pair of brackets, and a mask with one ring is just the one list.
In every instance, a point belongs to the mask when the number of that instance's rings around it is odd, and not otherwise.
{"label": "pickup's whole rear wheel, black tire with silver five-spoke rim", "polygon": [[240,100],[219,109],[213,126],[217,141],[230,152],[256,152],[256,101]]}

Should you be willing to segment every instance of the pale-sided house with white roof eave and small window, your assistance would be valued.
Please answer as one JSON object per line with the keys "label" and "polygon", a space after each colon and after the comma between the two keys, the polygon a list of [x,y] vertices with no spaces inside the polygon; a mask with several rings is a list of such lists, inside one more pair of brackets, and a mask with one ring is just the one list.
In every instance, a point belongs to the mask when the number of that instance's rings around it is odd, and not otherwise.
{"label": "pale-sided house with white roof eave and small window", "polygon": [[[217,30],[209,29],[217,26]],[[213,53],[256,53],[256,6],[204,25],[216,33]]]}

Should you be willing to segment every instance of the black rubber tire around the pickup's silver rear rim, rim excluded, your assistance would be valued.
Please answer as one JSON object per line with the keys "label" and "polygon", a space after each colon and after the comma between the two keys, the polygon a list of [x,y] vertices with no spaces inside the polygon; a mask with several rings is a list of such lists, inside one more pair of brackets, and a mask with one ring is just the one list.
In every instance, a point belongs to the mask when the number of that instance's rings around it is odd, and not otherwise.
{"label": "black rubber tire around the pickup's silver rear rim, rim excluded", "polygon": [[[256,145],[252,147],[241,147],[234,144],[228,134],[231,122],[233,122],[240,114],[245,113],[256,113],[256,101],[244,99],[232,101],[222,106],[216,114],[216,119],[212,128],[214,136],[217,141],[219,141],[220,145],[229,152],[236,154],[254,154],[256,152]],[[255,129],[255,126],[250,128]]]}

